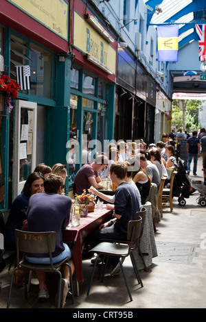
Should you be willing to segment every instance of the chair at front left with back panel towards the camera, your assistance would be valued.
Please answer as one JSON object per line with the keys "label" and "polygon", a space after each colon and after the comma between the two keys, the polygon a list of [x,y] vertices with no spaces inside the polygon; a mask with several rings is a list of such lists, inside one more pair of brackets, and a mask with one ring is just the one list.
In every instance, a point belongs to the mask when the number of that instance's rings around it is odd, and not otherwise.
{"label": "chair at front left with back panel towards the camera", "polygon": [[[56,249],[56,232],[24,232],[22,230],[15,230],[15,238],[16,238],[16,267],[12,271],[11,282],[10,282],[10,291],[8,294],[8,303],[7,308],[10,306],[10,297],[12,293],[12,286],[14,280],[14,272],[16,269],[23,269],[24,271],[24,289],[25,289],[25,299],[27,299],[27,281],[26,281],[26,271],[30,273],[32,271],[44,271],[49,273],[58,273],[59,282],[58,282],[58,308],[60,308],[60,295],[61,295],[61,287],[62,287],[62,273],[60,269],[62,265],[67,265],[69,267],[70,273],[70,287],[71,287],[71,299],[72,304],[74,303],[73,299],[73,281],[71,275],[71,267],[67,263],[69,258],[65,258],[64,260],[53,263],[52,260],[52,252]],[[23,260],[21,260],[19,253],[23,253]],[[25,253],[49,253],[50,264],[33,264],[28,262],[25,258]],[[30,274],[31,276],[31,274]],[[30,284],[30,278],[28,282],[28,286]]]}

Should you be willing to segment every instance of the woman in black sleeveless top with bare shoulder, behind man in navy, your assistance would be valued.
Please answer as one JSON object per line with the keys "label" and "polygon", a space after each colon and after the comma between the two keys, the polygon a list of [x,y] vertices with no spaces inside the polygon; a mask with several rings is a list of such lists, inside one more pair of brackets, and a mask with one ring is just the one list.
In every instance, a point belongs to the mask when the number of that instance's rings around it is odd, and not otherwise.
{"label": "woman in black sleeveless top with bare shoulder, behind man in navy", "polygon": [[144,169],[141,169],[141,166],[139,165],[139,162],[137,162],[137,159],[134,160],[129,160],[130,164],[132,164],[133,166],[138,166],[139,169],[135,169],[135,171],[132,172],[132,179],[133,182],[135,182],[140,196],[141,196],[141,204],[144,205],[144,203],[146,202],[146,199],[150,193],[150,178],[148,177],[148,174],[146,173],[146,171],[144,171]]}

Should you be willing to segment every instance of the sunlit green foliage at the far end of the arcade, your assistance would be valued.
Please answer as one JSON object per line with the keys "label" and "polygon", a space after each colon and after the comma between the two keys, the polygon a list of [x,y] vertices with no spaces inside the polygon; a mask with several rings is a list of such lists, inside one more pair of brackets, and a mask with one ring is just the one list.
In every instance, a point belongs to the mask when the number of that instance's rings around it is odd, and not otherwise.
{"label": "sunlit green foliage at the far end of the arcade", "polygon": [[[202,101],[191,99],[186,101],[185,106],[185,126],[187,132],[198,129],[201,125],[198,123],[198,110],[202,110]],[[183,127],[183,111],[179,108],[179,100],[172,102],[172,127]]]}

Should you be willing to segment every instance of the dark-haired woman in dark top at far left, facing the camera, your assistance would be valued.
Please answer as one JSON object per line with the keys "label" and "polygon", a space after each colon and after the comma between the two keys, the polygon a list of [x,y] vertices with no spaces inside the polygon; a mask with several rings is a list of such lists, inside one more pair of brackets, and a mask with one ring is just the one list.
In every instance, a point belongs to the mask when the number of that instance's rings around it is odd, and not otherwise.
{"label": "dark-haired woman in dark top at far left, facing the camera", "polygon": [[21,195],[14,199],[8,221],[5,223],[4,245],[8,251],[16,249],[15,229],[21,230],[23,222],[27,219],[27,207],[29,199],[35,193],[42,193],[44,191],[44,177],[41,173],[33,172],[27,177],[23,186]]}

